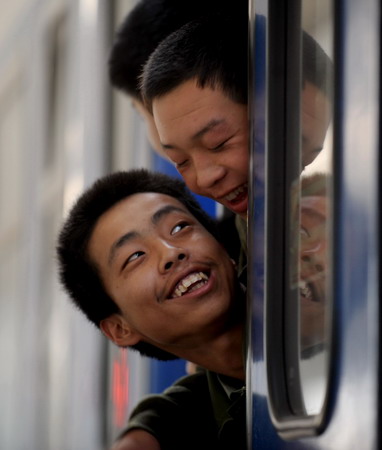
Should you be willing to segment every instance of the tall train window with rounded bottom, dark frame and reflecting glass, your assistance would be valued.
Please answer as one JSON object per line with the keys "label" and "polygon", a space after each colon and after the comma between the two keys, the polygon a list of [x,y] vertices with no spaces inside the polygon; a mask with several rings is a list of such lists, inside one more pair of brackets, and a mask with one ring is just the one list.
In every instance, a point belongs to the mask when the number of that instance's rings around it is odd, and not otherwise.
{"label": "tall train window with rounded bottom, dark frame and reflecting glass", "polygon": [[266,345],[283,437],[324,421],[331,350],[332,0],[269,2]]}

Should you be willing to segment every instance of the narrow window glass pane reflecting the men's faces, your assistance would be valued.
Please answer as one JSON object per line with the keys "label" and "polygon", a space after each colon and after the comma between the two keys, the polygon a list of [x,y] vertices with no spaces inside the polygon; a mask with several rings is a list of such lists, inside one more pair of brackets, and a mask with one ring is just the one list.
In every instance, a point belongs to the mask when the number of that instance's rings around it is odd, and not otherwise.
{"label": "narrow window glass pane reflecting the men's faces", "polygon": [[[303,18],[304,8],[311,8],[312,3],[302,2]],[[329,8],[327,12],[330,17]],[[297,267],[290,273],[291,292],[295,292],[292,300],[298,302],[302,409],[306,415],[314,415],[324,405],[329,364],[333,69],[328,56],[328,19],[320,18],[317,23],[311,20],[312,14],[306,16],[310,23],[303,23],[302,31],[301,175],[291,189],[290,216],[294,223],[290,262]],[[323,28],[324,40],[320,39]],[[293,291],[296,282],[298,289]]]}

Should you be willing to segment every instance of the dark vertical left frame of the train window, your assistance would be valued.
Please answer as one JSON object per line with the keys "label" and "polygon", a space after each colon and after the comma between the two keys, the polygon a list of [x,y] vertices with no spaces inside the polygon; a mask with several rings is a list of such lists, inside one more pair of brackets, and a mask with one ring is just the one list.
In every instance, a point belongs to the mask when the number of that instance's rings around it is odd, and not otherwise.
{"label": "dark vertical left frame of the train window", "polygon": [[304,411],[295,326],[298,286],[291,284],[297,261],[290,252],[296,245],[292,188],[300,174],[300,0],[285,3],[284,10],[270,2],[268,39],[266,346],[271,413],[277,422]]}

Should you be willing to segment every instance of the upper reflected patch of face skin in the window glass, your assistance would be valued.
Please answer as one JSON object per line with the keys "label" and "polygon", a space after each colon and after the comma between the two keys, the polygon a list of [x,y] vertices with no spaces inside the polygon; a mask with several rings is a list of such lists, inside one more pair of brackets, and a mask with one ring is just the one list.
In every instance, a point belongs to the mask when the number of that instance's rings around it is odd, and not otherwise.
{"label": "upper reflected patch of face skin in the window glass", "polygon": [[302,91],[302,168],[312,163],[321,152],[331,121],[331,103],[314,84],[305,82]]}

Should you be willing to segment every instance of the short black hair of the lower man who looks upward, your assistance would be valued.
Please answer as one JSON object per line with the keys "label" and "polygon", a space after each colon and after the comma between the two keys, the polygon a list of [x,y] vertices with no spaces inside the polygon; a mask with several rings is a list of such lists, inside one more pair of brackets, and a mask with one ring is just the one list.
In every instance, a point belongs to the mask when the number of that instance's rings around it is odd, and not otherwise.
{"label": "short black hair of the lower man who looks upward", "polygon": [[[56,249],[61,284],[73,303],[97,327],[103,319],[121,311],[106,292],[98,269],[89,257],[89,240],[102,214],[121,200],[144,192],[176,198],[217,237],[215,220],[201,208],[180,179],[146,169],[115,172],[98,179],[75,202],[61,228]],[[157,359],[177,358],[145,342],[133,348]]]}

